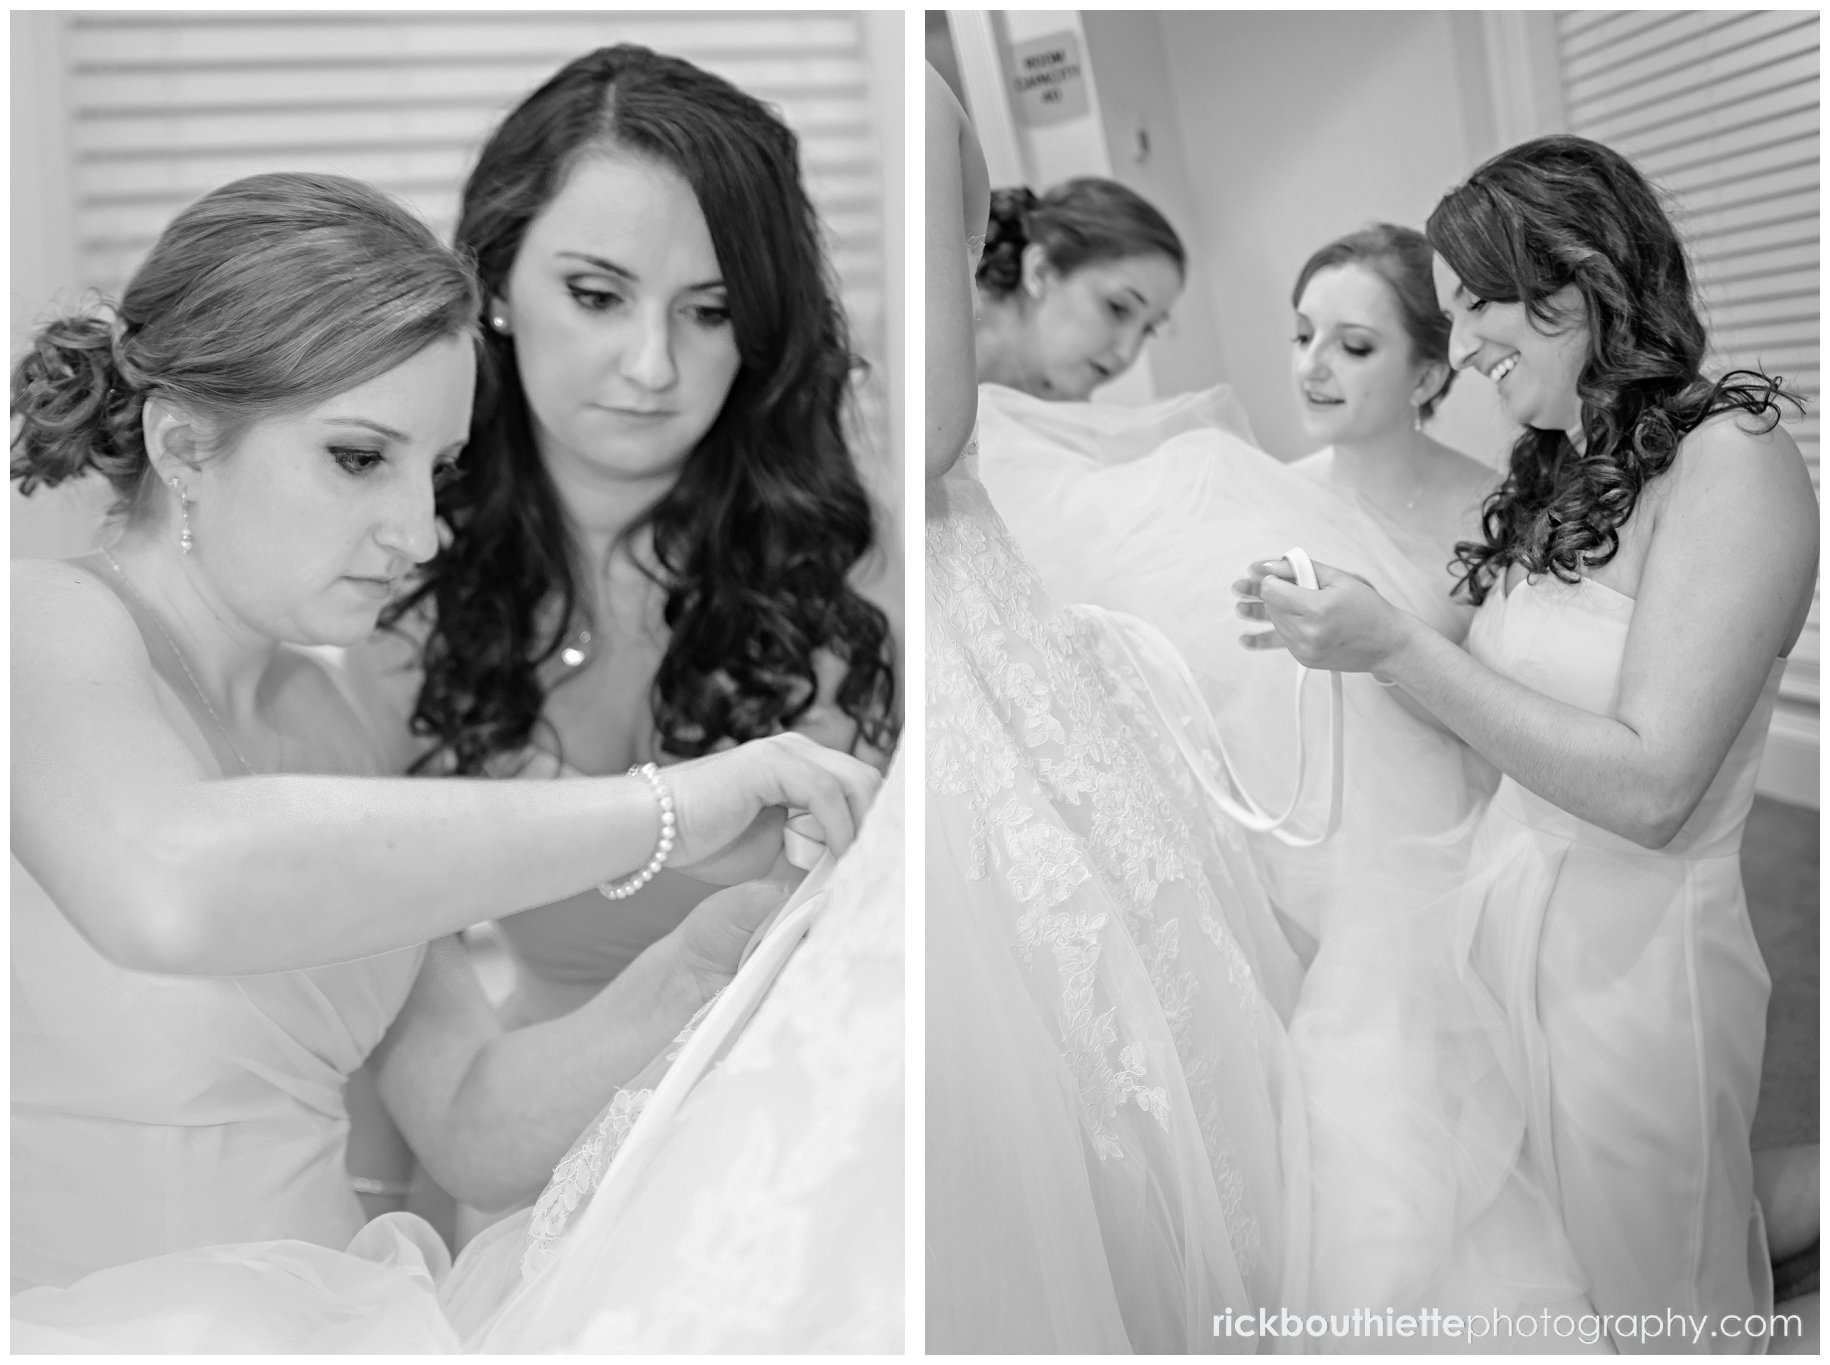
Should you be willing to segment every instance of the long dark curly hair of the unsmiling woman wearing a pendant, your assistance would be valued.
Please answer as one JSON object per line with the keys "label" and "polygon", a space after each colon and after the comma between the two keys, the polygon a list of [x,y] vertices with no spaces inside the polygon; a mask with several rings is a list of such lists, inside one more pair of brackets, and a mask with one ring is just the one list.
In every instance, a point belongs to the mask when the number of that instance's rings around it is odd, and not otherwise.
{"label": "long dark curly hair of the unsmiling woman wearing a pendant", "polygon": [[[730,298],[739,371],[646,529],[668,646],[650,690],[661,748],[705,754],[792,726],[816,701],[814,653],[845,672],[858,741],[895,739],[889,622],[847,582],[875,545],[844,421],[856,357],[829,278],[794,134],[690,62],[602,48],[529,95],[465,185],[458,247],[501,296],[529,223],[600,148],[673,168],[705,214]],[[523,748],[545,704],[540,668],[578,624],[582,553],[534,445],[514,348],[483,328],[463,478],[439,496],[450,545],[384,620],[426,602],[412,717],[436,745],[419,770],[481,772]]]}

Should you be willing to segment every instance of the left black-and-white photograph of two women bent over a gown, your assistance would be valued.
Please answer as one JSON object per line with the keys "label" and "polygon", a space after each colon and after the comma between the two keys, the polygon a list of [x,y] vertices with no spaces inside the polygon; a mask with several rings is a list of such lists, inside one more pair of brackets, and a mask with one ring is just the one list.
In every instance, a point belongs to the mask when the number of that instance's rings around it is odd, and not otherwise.
{"label": "left black-and-white photograph of two women bent over a gown", "polygon": [[15,1350],[904,1350],[904,26],[13,13]]}

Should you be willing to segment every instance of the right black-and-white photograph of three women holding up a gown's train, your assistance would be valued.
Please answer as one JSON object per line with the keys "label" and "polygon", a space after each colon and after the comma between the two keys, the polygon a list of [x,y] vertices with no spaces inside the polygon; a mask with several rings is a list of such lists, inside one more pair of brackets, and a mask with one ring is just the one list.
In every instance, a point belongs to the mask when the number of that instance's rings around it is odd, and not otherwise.
{"label": "right black-and-white photograph of three women holding up a gown's train", "polygon": [[928,11],[930,1352],[1819,1349],[1815,11]]}

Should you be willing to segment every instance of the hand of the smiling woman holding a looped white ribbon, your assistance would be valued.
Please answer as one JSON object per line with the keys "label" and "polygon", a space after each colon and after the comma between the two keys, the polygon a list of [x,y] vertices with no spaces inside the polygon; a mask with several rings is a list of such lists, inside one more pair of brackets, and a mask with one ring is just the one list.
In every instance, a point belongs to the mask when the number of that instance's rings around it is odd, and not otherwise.
{"label": "hand of the smiling woman holding a looped white ribbon", "polygon": [[1296,586],[1286,560],[1257,560],[1233,584],[1235,607],[1268,631],[1241,637],[1248,650],[1288,650],[1307,668],[1369,673],[1383,668],[1407,642],[1413,620],[1365,578],[1327,564],[1316,565],[1314,591]]}

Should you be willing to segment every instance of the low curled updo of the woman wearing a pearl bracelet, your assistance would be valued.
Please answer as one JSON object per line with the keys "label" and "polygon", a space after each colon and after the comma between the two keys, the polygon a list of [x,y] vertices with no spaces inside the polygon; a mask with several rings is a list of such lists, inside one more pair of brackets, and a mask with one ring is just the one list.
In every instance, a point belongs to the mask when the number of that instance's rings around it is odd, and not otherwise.
{"label": "low curled updo of the woman wearing a pearl bracelet", "polygon": [[99,472],[130,511],[146,399],[210,423],[214,450],[474,335],[478,287],[432,231],[344,176],[249,176],[159,234],[119,306],[44,326],[13,368],[20,492]]}

